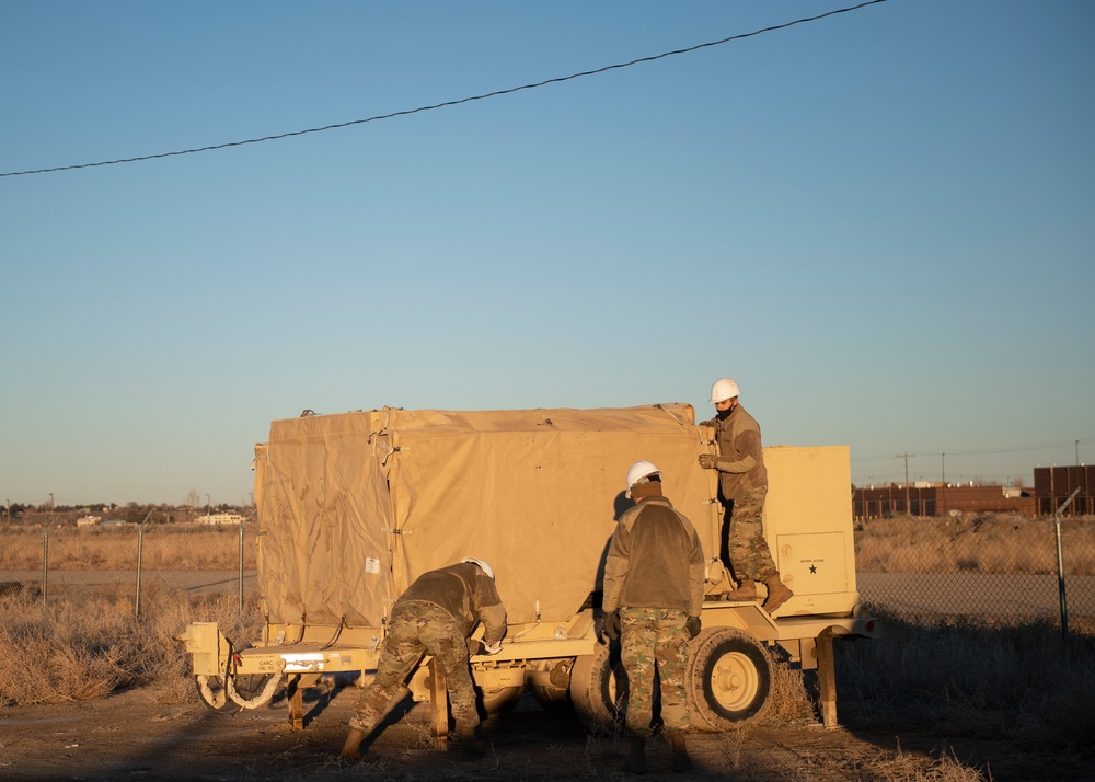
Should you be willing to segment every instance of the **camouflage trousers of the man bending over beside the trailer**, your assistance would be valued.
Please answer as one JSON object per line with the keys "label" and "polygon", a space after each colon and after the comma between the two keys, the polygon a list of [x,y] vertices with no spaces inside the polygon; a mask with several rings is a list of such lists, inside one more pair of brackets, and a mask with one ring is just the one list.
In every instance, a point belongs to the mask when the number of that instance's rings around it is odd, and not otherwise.
{"label": "camouflage trousers of the man bending over beside the trailer", "polygon": [[361,693],[349,726],[365,734],[371,733],[384,718],[393,701],[406,694],[405,681],[426,653],[433,655],[445,670],[457,729],[479,725],[475,689],[468,667],[468,639],[452,614],[443,608],[413,600],[399,602],[392,609],[377,676]]}

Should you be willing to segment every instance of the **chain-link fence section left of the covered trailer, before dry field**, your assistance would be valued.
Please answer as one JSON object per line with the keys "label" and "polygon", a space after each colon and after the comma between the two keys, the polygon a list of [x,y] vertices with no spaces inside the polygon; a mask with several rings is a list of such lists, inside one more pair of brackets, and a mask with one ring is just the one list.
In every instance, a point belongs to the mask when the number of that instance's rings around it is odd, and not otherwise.
{"label": "chain-link fence section left of the covered trailer, before dry field", "polygon": [[104,589],[131,595],[140,613],[151,589],[258,599],[258,524],[117,524],[0,528],[0,591],[60,600]]}

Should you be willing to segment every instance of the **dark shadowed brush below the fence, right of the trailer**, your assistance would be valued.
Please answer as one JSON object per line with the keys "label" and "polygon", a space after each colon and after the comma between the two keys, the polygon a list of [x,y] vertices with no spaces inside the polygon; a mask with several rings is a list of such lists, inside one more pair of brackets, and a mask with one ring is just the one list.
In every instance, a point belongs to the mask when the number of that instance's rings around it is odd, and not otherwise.
{"label": "dark shadowed brush below the fence, right of the trailer", "polygon": [[842,643],[841,721],[948,736],[1006,738],[1037,751],[1088,751],[1095,736],[1095,637],[1065,644],[1049,624],[913,625],[884,618],[885,635]]}

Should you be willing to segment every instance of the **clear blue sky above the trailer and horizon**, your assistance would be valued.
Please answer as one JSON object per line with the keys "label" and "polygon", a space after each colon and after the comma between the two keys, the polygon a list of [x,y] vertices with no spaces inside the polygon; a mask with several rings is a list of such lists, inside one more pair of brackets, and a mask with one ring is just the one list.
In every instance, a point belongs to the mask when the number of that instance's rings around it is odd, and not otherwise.
{"label": "clear blue sky above the trailer and horizon", "polygon": [[[852,4],[3,3],[0,173]],[[235,504],[306,407],[706,418],[722,376],[857,483],[1091,463],[1093,33],[889,0],[2,176],[0,499]]]}

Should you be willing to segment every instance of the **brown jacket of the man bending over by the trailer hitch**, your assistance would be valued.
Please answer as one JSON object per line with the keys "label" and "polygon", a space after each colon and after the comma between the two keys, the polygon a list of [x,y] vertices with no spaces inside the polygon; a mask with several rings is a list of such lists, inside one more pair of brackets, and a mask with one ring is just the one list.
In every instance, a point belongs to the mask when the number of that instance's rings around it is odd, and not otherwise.
{"label": "brown jacket of the man bending over by the trailer hitch", "polygon": [[494,578],[479,565],[461,562],[418,576],[396,605],[422,601],[440,606],[452,614],[464,637],[483,622],[483,643],[496,646],[506,635],[506,608]]}

